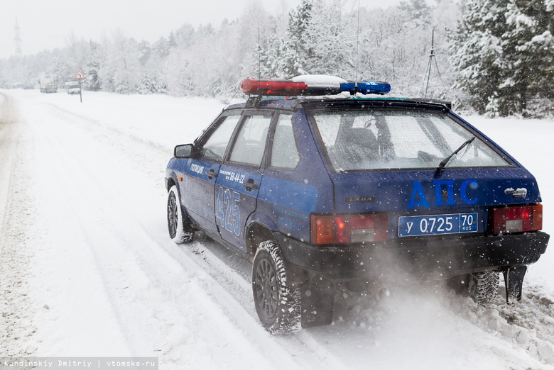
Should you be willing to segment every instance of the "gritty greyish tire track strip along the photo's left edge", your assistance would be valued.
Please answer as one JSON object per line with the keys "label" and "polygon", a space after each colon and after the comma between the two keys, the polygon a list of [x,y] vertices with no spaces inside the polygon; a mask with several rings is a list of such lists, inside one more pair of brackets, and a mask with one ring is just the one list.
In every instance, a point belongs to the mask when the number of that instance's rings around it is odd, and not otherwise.
{"label": "gritty greyish tire track strip along the photo's left edge", "polygon": [[28,286],[34,202],[21,186],[29,176],[31,145],[11,96],[0,94],[0,113],[0,353],[25,356],[36,349],[30,340],[36,306]]}

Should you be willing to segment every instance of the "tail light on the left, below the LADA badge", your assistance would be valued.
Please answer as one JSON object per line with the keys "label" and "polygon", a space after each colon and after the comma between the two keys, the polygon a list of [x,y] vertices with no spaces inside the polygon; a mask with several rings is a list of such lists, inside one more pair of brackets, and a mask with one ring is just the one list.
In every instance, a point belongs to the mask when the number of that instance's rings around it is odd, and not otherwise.
{"label": "tail light on the left, below the LADA badge", "polygon": [[389,240],[389,215],[312,215],[314,244],[384,242]]}

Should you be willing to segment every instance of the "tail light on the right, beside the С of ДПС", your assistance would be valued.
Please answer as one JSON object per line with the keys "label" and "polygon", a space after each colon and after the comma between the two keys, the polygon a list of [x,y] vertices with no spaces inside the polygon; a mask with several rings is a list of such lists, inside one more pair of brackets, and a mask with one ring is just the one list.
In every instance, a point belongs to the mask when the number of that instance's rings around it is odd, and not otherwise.
{"label": "tail light on the right, beside the \u0421 of \u0414\u041f\u0421", "polygon": [[543,228],[543,205],[492,208],[493,233],[526,232]]}

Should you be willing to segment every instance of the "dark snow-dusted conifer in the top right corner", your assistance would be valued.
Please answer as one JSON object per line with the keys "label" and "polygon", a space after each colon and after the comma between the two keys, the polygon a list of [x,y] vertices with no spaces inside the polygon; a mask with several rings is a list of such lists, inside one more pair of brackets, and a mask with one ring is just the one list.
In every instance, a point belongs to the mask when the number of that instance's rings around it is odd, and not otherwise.
{"label": "dark snow-dusted conifer in the top right corner", "polygon": [[457,87],[489,116],[553,99],[553,10],[544,0],[470,0],[452,38]]}

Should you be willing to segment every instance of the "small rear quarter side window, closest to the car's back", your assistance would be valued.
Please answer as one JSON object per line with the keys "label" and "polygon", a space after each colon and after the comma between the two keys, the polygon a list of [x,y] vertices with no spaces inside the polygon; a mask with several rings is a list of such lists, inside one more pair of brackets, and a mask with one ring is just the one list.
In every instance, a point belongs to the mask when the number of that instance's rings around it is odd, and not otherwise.
{"label": "small rear quarter side window, closest to the car's back", "polygon": [[300,162],[290,114],[281,114],[277,121],[271,144],[271,167],[295,169]]}

